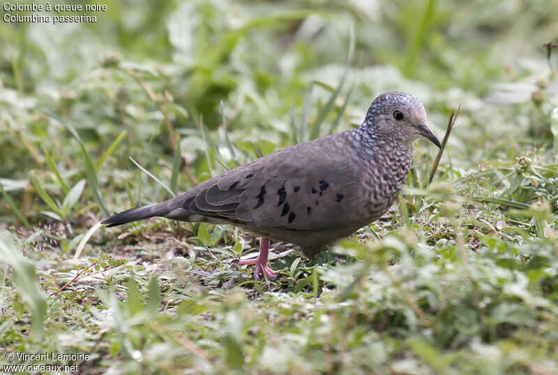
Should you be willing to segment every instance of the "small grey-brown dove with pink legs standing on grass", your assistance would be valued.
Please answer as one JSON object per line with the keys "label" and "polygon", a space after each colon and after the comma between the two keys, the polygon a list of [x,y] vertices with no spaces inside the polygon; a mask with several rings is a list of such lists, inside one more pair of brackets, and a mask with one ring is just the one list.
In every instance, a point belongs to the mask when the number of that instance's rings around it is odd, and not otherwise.
{"label": "small grey-brown dove with pink legs standing on grass", "polygon": [[386,213],[407,180],[413,142],[440,148],[415,96],[389,91],[372,101],[361,126],[299,143],[228,170],[163,203],[135,207],[101,221],[108,227],[154,216],[232,224],[260,236],[259,254],[239,265],[267,265],[270,239],[315,256]]}

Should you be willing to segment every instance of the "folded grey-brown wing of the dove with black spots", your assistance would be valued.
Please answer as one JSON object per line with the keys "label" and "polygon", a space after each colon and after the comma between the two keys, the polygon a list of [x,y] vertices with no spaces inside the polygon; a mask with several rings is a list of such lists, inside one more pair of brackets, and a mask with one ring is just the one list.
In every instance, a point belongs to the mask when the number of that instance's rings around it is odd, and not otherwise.
{"label": "folded grey-brown wing of the dove with black spots", "polygon": [[356,207],[358,163],[340,155],[346,147],[339,137],[287,147],[174,198],[181,207],[165,216],[290,230],[342,226],[363,208]]}

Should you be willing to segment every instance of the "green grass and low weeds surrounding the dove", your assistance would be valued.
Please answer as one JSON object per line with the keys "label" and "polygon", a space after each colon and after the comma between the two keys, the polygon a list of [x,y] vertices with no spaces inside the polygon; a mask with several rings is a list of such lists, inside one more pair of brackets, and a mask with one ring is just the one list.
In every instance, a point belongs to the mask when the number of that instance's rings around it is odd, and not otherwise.
{"label": "green grass and low weeds surrounding the dove", "polygon": [[[372,4],[1,23],[0,367],[554,374],[557,4]],[[331,251],[272,243],[274,281],[236,264],[257,241],[234,227],[97,224],[358,126],[387,90],[421,98],[441,139],[461,103],[444,153],[416,142],[399,204]],[[5,355],[52,351],[89,359]]]}

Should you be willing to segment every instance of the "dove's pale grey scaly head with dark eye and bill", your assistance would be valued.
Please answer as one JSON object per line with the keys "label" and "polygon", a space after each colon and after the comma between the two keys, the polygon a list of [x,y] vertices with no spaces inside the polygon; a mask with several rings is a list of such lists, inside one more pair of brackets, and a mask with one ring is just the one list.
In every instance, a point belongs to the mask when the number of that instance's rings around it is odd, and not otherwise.
{"label": "dove's pale grey scaly head with dark eye and bill", "polygon": [[421,101],[404,92],[389,91],[375,98],[364,120],[376,138],[398,140],[407,145],[424,137],[440,147],[436,135],[428,128]]}

